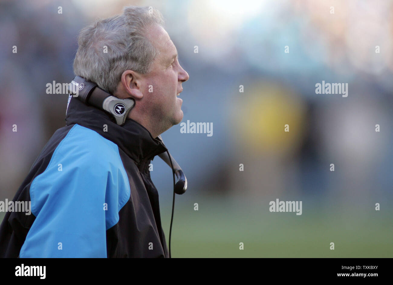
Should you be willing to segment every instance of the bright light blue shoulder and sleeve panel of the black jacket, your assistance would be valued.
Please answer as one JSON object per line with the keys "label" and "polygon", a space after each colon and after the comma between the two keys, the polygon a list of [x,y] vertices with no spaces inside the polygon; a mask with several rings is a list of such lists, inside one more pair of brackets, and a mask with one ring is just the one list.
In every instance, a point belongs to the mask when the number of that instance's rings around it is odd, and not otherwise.
{"label": "bright light blue shoulder and sleeve panel of the black jacket", "polygon": [[36,219],[20,257],[107,257],[106,230],[130,197],[118,146],[75,125],[33,180],[30,197]]}

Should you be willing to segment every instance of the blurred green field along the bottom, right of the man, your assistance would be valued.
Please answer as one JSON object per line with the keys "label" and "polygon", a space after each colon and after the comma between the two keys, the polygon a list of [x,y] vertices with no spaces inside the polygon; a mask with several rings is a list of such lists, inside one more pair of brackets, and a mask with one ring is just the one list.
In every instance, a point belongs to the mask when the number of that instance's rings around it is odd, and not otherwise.
{"label": "blurred green field along the bottom, right of the man", "polygon": [[[332,211],[307,204],[303,201],[297,216],[270,213],[267,200],[176,196],[172,257],[393,257],[392,211],[362,206]],[[169,243],[171,203],[160,205]]]}

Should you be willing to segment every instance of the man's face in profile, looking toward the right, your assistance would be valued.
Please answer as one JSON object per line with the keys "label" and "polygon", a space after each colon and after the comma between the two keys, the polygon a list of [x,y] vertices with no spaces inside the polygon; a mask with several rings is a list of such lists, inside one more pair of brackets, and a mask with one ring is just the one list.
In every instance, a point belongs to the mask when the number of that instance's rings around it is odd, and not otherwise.
{"label": "man's face in profile, looking toward the right", "polygon": [[[144,76],[142,87],[143,109],[162,127],[169,129],[183,119],[182,82],[189,75],[180,66],[177,50],[168,33],[158,25],[151,26],[147,38],[159,51],[152,63],[152,70]],[[152,86],[149,88],[149,85]],[[152,91],[152,92],[149,92]]]}

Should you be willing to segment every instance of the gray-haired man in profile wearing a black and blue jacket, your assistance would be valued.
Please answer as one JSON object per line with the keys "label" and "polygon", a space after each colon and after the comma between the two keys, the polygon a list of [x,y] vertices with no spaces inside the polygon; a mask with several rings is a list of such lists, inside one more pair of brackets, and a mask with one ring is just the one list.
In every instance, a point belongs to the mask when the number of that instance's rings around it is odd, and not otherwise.
{"label": "gray-haired man in profile wearing a black and blue jacket", "polygon": [[75,75],[135,106],[120,126],[71,97],[13,199],[31,215],[9,211],[0,226],[1,257],[169,257],[149,164],[183,118],[189,75],[162,26],[156,9],[125,7],[81,31]]}

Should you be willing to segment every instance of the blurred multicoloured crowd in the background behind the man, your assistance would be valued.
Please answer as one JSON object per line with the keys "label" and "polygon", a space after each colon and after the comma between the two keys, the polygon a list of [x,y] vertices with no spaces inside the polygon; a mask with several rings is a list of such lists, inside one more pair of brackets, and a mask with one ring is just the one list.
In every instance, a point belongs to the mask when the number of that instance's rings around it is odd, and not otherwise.
{"label": "blurred multicoloured crowd in the background behind the man", "polygon": [[[213,123],[211,137],[180,125],[162,135],[190,195],[391,195],[391,1],[18,0],[0,2],[0,200],[65,124],[68,96],[46,94],[46,83],[73,78],[79,30],[129,5],[166,19],[190,75],[183,121]],[[348,83],[348,97],[316,94],[322,80]],[[159,190],[169,174],[154,168]]]}

